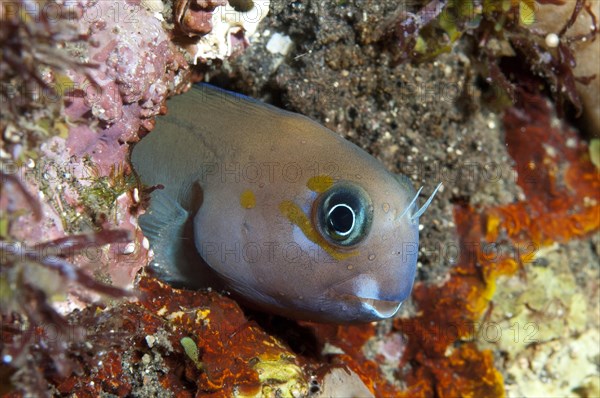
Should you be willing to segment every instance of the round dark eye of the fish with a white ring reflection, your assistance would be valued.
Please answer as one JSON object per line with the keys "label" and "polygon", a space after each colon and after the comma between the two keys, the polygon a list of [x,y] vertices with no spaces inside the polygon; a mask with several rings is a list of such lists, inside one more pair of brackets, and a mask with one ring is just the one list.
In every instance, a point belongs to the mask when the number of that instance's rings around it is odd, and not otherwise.
{"label": "round dark eye of the fish with a white ring reflection", "polygon": [[316,223],[321,235],[334,244],[352,246],[367,236],[373,206],[367,192],[338,182],[317,199]]}

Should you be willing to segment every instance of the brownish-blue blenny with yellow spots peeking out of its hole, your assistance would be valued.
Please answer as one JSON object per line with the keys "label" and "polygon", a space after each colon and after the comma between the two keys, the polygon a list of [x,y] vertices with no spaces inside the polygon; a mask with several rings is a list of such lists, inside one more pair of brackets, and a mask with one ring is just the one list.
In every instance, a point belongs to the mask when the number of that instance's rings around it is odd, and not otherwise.
{"label": "brownish-blue blenny with yellow spots peeking out of its hole", "polygon": [[159,186],[140,226],[150,268],[175,286],[226,289],[285,317],[335,323],[396,314],[410,294],[419,192],[313,120],[197,85],[135,145]]}

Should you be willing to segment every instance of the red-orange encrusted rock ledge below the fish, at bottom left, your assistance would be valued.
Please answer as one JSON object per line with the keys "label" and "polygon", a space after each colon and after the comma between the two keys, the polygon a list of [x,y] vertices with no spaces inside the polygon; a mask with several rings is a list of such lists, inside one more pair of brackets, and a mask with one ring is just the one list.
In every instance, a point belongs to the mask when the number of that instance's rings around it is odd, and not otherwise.
{"label": "red-orange encrusted rock ledge below the fish, at bottom left", "polygon": [[[71,323],[87,328],[86,343],[93,349],[73,358],[86,369],[83,374],[64,378],[46,369],[58,391],[124,396],[143,386],[148,393],[170,391],[178,397],[257,394],[264,387],[257,370],[260,363],[295,364],[295,356],[249,323],[231,299],[215,292],[173,289],[146,277],[139,288],[139,303],[86,308],[71,316]],[[196,342],[200,367],[184,352],[184,337]]]}

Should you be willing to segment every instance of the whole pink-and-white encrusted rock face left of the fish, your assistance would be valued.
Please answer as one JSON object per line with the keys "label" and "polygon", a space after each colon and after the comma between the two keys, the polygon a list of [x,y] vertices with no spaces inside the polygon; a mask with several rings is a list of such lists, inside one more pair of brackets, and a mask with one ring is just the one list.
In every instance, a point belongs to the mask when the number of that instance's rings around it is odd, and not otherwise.
{"label": "whole pink-and-white encrusted rock face left of the fish", "polygon": [[147,249],[131,213],[140,193],[128,166],[129,144],[152,129],[168,96],[189,85],[187,62],[161,15],[138,1],[3,2],[0,20],[3,40],[13,36],[11,56],[23,63],[21,70],[15,62],[2,64],[9,72],[3,93],[31,97],[29,108],[4,112],[20,97],[2,104],[0,130],[24,137],[3,144],[2,171],[41,203],[41,220],[34,220],[3,184],[0,214],[9,216],[0,223],[1,235],[36,245],[65,235],[129,231],[130,243],[69,260],[106,283],[131,286]]}

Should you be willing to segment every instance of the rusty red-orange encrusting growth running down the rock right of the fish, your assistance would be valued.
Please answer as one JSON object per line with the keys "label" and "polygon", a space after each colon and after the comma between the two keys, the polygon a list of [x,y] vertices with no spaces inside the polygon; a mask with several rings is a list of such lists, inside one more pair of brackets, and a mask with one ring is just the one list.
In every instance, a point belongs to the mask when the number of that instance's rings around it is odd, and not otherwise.
{"label": "rusty red-orange encrusting growth running down the rock right of the fish", "polygon": [[[442,286],[418,284],[413,295],[419,315],[394,325],[409,339],[402,360],[413,365],[409,387],[425,380],[438,396],[504,396],[492,353],[463,344],[478,332],[481,316],[493,311],[496,277],[517,272],[542,245],[599,228],[600,176],[576,133],[554,127],[552,110],[539,96],[522,109],[509,109],[504,124],[526,199],[483,211],[455,208],[459,264]],[[510,249],[501,253],[498,245]],[[433,395],[431,390],[422,396]]]}

